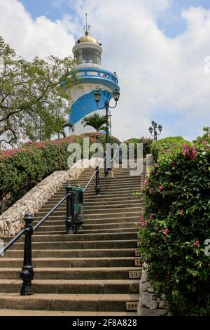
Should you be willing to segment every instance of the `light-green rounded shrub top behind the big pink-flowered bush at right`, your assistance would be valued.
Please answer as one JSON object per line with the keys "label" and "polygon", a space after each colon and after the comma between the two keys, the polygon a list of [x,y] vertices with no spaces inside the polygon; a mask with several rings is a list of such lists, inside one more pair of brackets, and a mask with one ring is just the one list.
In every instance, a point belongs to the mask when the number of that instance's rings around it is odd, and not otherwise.
{"label": "light-green rounded shrub top behind the big pink-flowered bush at right", "polygon": [[184,140],[181,136],[170,136],[169,138],[162,138],[161,140],[154,141],[151,146],[151,153],[155,161],[158,161],[165,154],[172,152],[172,150],[181,147],[182,145],[190,145],[190,142]]}

